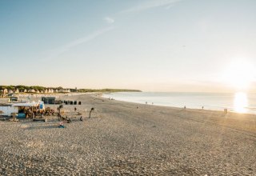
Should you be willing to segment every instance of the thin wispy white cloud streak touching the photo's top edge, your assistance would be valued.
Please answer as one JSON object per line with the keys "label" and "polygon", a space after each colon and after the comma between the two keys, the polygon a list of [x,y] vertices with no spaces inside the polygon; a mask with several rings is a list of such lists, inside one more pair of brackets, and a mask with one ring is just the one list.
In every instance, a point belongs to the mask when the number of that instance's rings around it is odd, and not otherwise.
{"label": "thin wispy white cloud streak touching the photo's top edge", "polygon": [[131,7],[130,9],[123,10],[122,13],[131,13],[131,12],[140,12],[143,10],[152,9],[154,7],[159,6],[166,6],[166,8],[170,8],[176,2],[180,2],[182,0],[154,0],[154,1],[147,1],[142,3],[138,6]]}

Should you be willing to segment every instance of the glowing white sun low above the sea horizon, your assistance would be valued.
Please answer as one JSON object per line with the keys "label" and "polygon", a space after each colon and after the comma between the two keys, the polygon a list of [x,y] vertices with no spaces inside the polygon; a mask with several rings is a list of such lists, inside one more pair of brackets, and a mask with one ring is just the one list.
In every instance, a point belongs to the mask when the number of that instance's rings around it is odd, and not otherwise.
{"label": "glowing white sun low above the sea horizon", "polygon": [[254,73],[254,66],[249,62],[232,62],[225,70],[224,81],[236,90],[247,90],[254,81]]}

